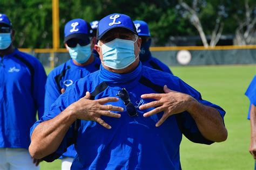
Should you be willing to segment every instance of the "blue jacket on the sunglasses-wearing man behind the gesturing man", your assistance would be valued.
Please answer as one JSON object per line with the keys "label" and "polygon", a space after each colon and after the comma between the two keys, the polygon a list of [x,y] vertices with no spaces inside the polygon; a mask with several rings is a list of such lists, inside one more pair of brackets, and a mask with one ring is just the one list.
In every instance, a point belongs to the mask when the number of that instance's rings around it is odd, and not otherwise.
{"label": "blue jacket on the sunglasses-wearing man behind the gesturing man", "polygon": [[[48,114],[52,103],[61,95],[61,89],[66,90],[76,80],[85,77],[86,75],[95,72],[99,69],[100,60],[95,57],[95,60],[87,66],[77,66],[70,59],[62,65],[53,69],[48,75],[45,85],[45,102],[44,113]],[[69,147],[68,151],[63,154],[66,157],[75,157],[76,151],[73,145]]]}

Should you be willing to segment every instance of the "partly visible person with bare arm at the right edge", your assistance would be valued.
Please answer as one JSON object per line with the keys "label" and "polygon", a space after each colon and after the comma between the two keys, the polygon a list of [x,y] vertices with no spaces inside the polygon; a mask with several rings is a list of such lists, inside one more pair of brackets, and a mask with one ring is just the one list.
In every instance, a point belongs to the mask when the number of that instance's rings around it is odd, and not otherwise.
{"label": "partly visible person with bare arm at the right edge", "polygon": [[[254,76],[252,82],[247,88],[245,95],[250,100],[250,107],[248,111],[247,118],[251,121],[251,145],[249,152],[252,154],[253,158],[256,160],[256,75]],[[255,162],[256,166],[256,162]]]}

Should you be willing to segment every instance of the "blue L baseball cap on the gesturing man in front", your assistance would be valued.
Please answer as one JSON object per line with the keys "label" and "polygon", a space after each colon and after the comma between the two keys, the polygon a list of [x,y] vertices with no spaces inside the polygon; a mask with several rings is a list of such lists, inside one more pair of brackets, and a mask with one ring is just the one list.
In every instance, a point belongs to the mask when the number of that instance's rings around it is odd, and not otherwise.
{"label": "blue L baseball cap on the gesturing man in front", "polygon": [[138,35],[136,31],[136,27],[129,16],[121,13],[113,13],[111,15],[108,15],[102,18],[99,21],[98,29],[97,29],[97,39],[99,40],[104,36],[104,34],[107,31],[110,31],[111,29],[114,29],[117,27],[123,27],[125,29],[130,30],[134,34]]}

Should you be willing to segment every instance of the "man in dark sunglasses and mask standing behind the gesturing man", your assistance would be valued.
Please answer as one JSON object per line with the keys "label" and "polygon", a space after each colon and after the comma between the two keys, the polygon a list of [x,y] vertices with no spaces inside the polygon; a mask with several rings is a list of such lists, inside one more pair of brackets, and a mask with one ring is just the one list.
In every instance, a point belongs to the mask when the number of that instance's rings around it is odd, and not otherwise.
{"label": "man in dark sunglasses and mask standing behind the gesturing man", "polygon": [[[72,19],[65,25],[64,43],[71,59],[51,71],[46,82],[45,113],[53,102],[76,80],[99,69],[100,60],[92,54],[96,38],[90,36],[91,26],[83,19]],[[63,154],[62,169],[70,169],[76,155],[74,146]]]}

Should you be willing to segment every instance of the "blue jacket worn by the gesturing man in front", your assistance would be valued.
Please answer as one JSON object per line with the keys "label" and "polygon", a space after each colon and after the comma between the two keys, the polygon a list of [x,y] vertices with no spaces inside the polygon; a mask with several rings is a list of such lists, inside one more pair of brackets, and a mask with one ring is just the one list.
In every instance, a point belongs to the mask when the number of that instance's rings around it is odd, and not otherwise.
{"label": "blue jacket worn by the gesturing man in front", "polygon": [[179,146],[182,134],[196,143],[212,144],[213,141],[201,135],[188,112],[170,116],[159,128],[156,128],[156,123],[163,112],[143,117],[152,108],[139,110],[138,107],[153,100],[140,96],[164,93],[165,84],[172,90],[190,94],[200,103],[216,108],[224,118],[223,109],[203,100],[198,91],[169,73],[142,66],[141,63],[129,74],[112,73],[101,66],[98,72],[79,79],[60,95],[50,113],[35,123],[30,133],[39,123],[52,119],[84,97],[86,91],[90,91],[91,100],[97,100],[116,96],[120,89],[126,88],[131,102],[137,108],[138,117],[127,114],[122,100],[107,103],[124,108],[120,118],[102,116],[112,126],[111,130],[93,121],[77,120],[66,133],[58,150],[45,157],[45,160],[57,159],[70,144],[75,143],[77,155],[71,169],[181,169]]}

